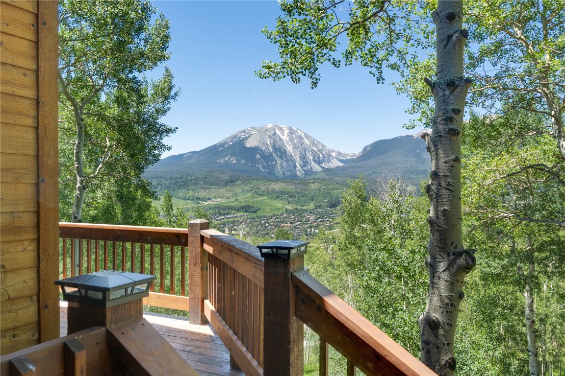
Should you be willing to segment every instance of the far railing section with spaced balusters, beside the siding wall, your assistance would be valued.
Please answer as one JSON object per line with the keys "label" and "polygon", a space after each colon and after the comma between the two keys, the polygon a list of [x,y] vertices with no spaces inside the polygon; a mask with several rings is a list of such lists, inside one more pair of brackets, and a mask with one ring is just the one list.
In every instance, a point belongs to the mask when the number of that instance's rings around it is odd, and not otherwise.
{"label": "far railing section with spaced balusters, beside the siding wall", "polygon": [[59,237],[62,278],[75,275],[78,249],[79,275],[105,269],[154,275],[144,304],[188,311],[186,229],[60,222]]}

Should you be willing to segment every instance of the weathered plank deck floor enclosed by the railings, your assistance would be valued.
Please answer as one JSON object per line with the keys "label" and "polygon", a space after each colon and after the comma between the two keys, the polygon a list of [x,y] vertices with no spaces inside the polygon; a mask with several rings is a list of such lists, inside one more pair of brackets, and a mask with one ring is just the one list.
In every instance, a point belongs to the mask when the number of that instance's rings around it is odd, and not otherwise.
{"label": "weathered plank deck floor enclosed by the railings", "polygon": [[[144,313],[147,321],[202,376],[243,376],[229,367],[229,352],[210,325],[191,325],[185,317]],[[60,302],[60,335],[67,335],[67,302]]]}

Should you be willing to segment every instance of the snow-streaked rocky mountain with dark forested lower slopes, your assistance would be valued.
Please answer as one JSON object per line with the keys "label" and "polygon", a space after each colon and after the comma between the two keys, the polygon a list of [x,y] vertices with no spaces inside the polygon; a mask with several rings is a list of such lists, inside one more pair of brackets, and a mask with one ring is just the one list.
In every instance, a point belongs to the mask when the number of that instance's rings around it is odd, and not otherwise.
{"label": "snow-streaked rocky mountain with dark forested lower slopes", "polygon": [[379,140],[357,155],[328,149],[293,127],[269,124],[241,130],[201,151],[164,158],[145,175],[151,178],[206,171],[282,179],[400,176],[417,184],[429,171],[429,154],[419,135]]}

